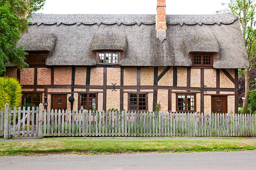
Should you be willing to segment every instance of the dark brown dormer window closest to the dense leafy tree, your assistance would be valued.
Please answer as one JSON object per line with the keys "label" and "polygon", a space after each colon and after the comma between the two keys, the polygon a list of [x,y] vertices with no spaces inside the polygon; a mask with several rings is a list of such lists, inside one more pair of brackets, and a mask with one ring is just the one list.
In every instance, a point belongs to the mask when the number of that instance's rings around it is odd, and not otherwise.
{"label": "dark brown dormer window closest to the dense leafy tree", "polygon": [[26,62],[29,65],[45,65],[47,52],[28,52]]}

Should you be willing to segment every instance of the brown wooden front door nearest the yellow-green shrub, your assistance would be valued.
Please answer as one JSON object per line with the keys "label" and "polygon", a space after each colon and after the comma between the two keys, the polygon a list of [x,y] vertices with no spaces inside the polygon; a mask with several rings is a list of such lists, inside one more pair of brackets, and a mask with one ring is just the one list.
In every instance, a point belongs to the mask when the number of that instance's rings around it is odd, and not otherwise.
{"label": "brown wooden front door nearest the yellow-green shrub", "polygon": [[66,94],[52,94],[51,109],[66,110],[67,109],[67,95]]}

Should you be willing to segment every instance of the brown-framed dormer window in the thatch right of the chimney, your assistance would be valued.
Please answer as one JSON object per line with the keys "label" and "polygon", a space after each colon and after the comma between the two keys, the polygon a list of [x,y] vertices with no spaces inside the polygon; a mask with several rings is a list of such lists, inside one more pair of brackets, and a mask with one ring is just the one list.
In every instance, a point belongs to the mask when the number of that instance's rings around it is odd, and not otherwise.
{"label": "brown-framed dormer window in the thatch right of the chimney", "polygon": [[212,53],[192,53],[193,66],[212,66],[213,54]]}

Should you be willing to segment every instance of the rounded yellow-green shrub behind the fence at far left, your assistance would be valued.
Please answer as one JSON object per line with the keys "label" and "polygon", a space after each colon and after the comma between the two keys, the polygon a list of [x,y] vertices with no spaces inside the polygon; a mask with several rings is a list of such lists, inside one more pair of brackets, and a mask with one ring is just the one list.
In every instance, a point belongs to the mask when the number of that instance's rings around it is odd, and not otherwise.
{"label": "rounded yellow-green shrub behind the fence at far left", "polygon": [[8,103],[10,107],[18,107],[21,100],[21,86],[17,79],[0,77],[0,108]]}

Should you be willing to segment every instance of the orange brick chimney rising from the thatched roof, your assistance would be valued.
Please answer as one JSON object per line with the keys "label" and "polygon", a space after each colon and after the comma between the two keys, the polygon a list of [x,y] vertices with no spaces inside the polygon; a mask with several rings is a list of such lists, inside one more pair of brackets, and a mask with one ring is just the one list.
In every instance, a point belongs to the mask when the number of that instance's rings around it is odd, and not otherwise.
{"label": "orange brick chimney rising from the thatched roof", "polygon": [[166,3],[165,0],[157,0],[156,37],[161,42],[166,39]]}

